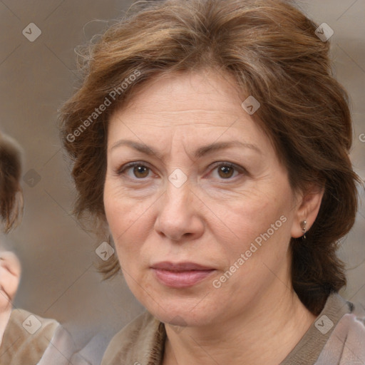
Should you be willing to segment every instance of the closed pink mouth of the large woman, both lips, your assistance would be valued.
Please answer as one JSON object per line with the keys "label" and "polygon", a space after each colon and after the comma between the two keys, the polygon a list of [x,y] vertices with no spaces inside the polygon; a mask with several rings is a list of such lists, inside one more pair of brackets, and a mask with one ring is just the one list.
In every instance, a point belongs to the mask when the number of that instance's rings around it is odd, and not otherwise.
{"label": "closed pink mouth of the large woman, both lips", "polygon": [[194,262],[159,262],[151,267],[158,281],[171,288],[186,288],[209,277],[215,269]]}

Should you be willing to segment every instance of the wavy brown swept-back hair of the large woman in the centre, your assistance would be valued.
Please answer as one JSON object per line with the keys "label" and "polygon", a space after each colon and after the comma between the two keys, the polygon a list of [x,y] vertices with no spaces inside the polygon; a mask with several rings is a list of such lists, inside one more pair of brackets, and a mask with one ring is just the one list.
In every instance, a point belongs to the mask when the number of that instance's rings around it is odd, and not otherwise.
{"label": "wavy brown swept-back hair of the large woman in the centre", "polygon": [[[349,160],[348,96],[332,76],[329,42],[316,29],[290,1],[278,0],[143,1],[115,21],[83,54],[81,86],[61,109],[77,217],[106,221],[106,136],[115,108],[163,73],[202,67],[230,73],[261,104],[252,117],[271,138],[292,188],[324,187],[307,239],[291,241],[294,290],[318,314],[329,293],[346,284],[336,249],[354,224],[359,178]],[[113,102],[96,113],[106,98]],[[118,269],[113,257],[101,271],[111,277]]]}

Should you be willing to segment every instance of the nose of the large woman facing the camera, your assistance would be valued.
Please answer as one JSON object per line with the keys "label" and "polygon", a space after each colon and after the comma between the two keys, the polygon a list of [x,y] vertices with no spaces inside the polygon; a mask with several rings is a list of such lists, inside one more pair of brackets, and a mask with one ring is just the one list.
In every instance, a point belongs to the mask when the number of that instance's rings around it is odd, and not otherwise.
{"label": "nose of the large woman facing the camera", "polygon": [[185,242],[199,238],[204,231],[202,202],[190,188],[188,181],[168,187],[158,203],[155,230],[170,240]]}

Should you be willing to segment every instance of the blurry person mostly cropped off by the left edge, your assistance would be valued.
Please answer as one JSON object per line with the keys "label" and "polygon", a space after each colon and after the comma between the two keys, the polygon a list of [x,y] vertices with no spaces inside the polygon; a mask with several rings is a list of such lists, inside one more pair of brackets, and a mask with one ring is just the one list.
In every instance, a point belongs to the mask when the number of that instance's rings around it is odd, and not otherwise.
{"label": "blurry person mostly cropped off by the left edge", "polygon": [[[6,233],[18,224],[23,211],[20,151],[14,139],[0,133],[0,218]],[[0,364],[88,364],[76,354],[71,336],[56,320],[13,309],[21,264],[13,252],[5,250],[4,240],[0,236]]]}

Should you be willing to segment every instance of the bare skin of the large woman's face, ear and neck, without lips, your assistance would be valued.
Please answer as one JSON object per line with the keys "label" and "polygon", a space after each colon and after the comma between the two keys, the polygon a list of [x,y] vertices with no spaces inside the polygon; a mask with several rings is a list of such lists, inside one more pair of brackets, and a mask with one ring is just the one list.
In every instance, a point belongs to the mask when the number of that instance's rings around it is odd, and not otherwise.
{"label": "bare skin of the large woman's face, ear and neck, without lips", "polygon": [[[289,240],[302,236],[303,220],[309,230],[322,192],[293,192],[269,139],[242,109],[245,98],[227,74],[200,70],[150,81],[110,118],[106,217],[128,286],[165,323],[164,365],[279,364],[315,319],[292,289]],[[118,145],[122,139],[161,158]],[[193,157],[202,145],[232,140],[259,152],[230,147]],[[118,173],[132,161],[142,172]],[[220,173],[217,162],[242,170]],[[177,168],[187,177],[181,187],[168,180]],[[282,216],[269,240],[213,287]],[[162,261],[215,271],[192,287],[170,288],[150,268]]]}

